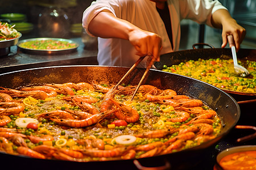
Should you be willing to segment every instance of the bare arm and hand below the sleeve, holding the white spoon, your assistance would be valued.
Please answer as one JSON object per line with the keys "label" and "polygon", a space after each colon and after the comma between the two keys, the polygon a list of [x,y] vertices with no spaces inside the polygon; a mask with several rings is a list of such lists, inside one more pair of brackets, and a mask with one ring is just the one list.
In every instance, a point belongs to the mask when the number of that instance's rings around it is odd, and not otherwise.
{"label": "bare arm and hand below the sleeve, holding the white spoon", "polygon": [[241,27],[241,25],[237,24],[236,20],[233,19],[229,12],[224,9],[220,9],[215,11],[212,14],[212,25],[215,28],[222,28],[222,45],[224,48],[228,44],[227,37],[232,34],[234,37],[234,43],[237,51],[240,49],[240,44],[246,35],[245,28]]}

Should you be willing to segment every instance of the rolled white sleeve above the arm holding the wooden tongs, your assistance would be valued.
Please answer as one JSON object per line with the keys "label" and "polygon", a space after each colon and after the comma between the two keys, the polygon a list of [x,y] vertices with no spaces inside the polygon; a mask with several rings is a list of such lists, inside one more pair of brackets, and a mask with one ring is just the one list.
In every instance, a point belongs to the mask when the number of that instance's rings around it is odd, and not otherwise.
{"label": "rolled white sleeve above the arm holding the wooden tongs", "polygon": [[93,1],[92,4],[86,8],[82,15],[82,27],[85,28],[85,31],[93,36],[92,33],[88,31],[88,25],[90,21],[102,10],[108,10],[115,15],[115,8],[118,8],[118,0],[97,0]]}

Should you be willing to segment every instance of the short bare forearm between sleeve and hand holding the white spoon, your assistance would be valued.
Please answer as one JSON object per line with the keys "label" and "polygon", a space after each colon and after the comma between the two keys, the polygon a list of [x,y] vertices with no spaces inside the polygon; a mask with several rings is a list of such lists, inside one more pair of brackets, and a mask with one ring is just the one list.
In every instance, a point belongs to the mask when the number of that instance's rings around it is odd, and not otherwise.
{"label": "short bare forearm between sleeve and hand holding the white spoon", "polygon": [[212,25],[214,28],[222,28],[222,24],[226,21],[226,20],[232,20],[232,22],[236,22],[236,20],[234,20],[230,14],[229,11],[224,10],[224,9],[220,9],[215,11],[212,14]]}

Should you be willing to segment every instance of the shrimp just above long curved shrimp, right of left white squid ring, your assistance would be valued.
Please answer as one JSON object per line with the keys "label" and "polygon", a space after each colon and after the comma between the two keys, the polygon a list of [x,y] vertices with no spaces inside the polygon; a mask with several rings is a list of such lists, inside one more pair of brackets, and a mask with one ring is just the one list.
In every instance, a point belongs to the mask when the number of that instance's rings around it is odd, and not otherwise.
{"label": "shrimp just above long curved shrimp, right of left white squid ring", "polygon": [[55,110],[55,111],[51,111],[51,112],[40,113],[40,114],[36,115],[36,117],[40,117],[40,118],[59,117],[59,118],[74,119],[74,117],[70,113],[68,113],[67,111],[61,111],[61,110]]}

